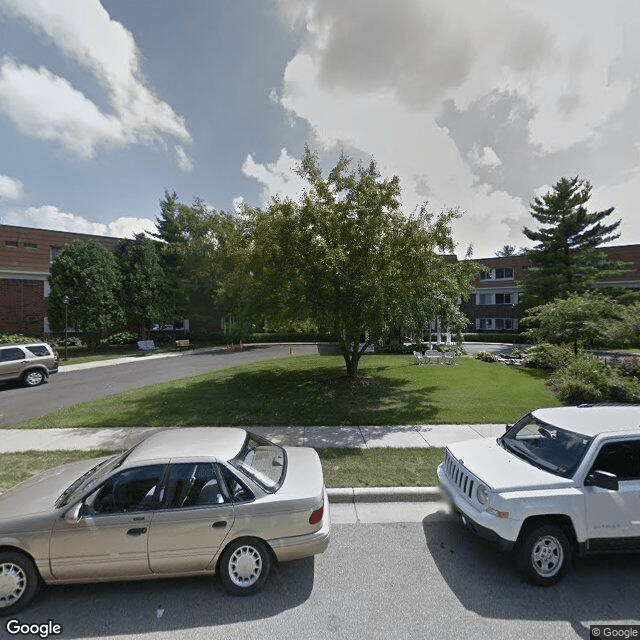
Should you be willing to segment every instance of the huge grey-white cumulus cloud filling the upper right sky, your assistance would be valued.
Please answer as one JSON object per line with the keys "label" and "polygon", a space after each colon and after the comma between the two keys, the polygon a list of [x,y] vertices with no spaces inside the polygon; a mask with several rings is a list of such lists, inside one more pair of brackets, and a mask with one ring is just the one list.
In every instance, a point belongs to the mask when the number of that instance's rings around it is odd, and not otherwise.
{"label": "huge grey-white cumulus cloud filling the upper right sky", "polygon": [[[580,0],[280,0],[302,38],[272,99],[310,125],[313,145],[355,149],[398,175],[406,209],[428,193],[432,208],[466,210],[455,227],[460,244],[493,255],[523,243],[530,186],[562,175],[516,181],[514,172],[560,152],[577,172],[602,128],[629,113],[635,67],[620,60],[631,50],[621,35],[634,5],[612,1],[603,13]],[[611,73],[614,62],[627,73]],[[507,103],[517,109],[492,119]],[[447,105],[458,115],[445,122]],[[482,129],[449,128],[477,121],[478,105]],[[245,173],[265,192],[283,186],[274,165],[248,160]],[[505,179],[529,188],[508,190]]]}

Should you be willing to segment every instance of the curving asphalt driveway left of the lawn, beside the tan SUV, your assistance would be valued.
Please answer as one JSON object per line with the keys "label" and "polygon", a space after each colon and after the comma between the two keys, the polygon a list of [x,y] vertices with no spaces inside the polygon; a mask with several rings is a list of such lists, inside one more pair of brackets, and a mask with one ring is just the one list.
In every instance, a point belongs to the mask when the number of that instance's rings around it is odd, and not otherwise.
{"label": "curving asphalt driveway left of the lawn, beside the tan SUV", "polygon": [[37,418],[45,413],[104,396],[177,380],[199,373],[289,355],[317,354],[315,345],[252,347],[245,351],[218,349],[184,352],[175,358],[141,357],[139,362],[82,371],[61,372],[35,388],[0,384],[0,427]]}

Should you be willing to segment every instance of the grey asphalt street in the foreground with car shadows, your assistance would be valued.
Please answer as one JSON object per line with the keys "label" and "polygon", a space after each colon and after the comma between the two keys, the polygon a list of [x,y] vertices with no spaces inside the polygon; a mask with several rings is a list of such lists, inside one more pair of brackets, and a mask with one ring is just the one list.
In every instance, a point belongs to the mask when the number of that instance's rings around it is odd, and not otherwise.
{"label": "grey asphalt street in the foreground with car shadows", "polygon": [[17,617],[101,640],[574,640],[589,624],[640,623],[639,557],[581,560],[561,584],[531,587],[452,517],[425,514],[334,525],[326,553],[275,567],[253,597],[216,578],[58,586]]}

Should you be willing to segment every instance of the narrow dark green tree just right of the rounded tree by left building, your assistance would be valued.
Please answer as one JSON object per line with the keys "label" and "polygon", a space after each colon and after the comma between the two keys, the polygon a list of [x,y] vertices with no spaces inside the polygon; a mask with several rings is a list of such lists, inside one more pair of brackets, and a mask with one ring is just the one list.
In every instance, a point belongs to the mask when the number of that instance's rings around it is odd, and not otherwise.
{"label": "narrow dark green tree just right of the rounded tree by left building", "polygon": [[120,301],[125,321],[139,337],[166,319],[167,281],[159,245],[138,234],[134,240],[121,240],[115,249],[122,275]]}

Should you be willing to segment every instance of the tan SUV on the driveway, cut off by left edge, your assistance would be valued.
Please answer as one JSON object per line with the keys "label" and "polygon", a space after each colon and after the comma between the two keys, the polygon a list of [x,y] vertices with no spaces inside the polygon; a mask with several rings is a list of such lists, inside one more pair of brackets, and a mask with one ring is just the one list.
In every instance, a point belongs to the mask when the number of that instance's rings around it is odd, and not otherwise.
{"label": "tan SUV on the driveway, cut off by left edge", "polygon": [[0,381],[21,380],[37,387],[58,372],[60,357],[46,342],[0,344]]}

